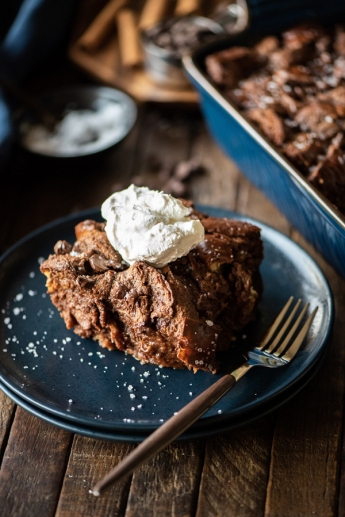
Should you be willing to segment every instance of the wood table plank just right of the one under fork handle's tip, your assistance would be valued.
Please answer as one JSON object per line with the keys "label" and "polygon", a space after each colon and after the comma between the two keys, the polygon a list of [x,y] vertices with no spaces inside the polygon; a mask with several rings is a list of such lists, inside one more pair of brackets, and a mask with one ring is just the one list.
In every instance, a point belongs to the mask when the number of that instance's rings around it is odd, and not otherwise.
{"label": "wood table plank just right of the one under fork handle's tip", "polygon": [[169,445],[133,474],[125,517],[194,515],[203,463],[202,440]]}

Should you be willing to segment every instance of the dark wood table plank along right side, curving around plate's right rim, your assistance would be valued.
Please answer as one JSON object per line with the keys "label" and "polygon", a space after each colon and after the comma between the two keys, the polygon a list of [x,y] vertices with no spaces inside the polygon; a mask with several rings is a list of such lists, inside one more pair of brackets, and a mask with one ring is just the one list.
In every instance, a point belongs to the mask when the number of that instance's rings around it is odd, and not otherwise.
{"label": "dark wood table plank along right side, curving around plate's right rim", "polygon": [[[294,240],[326,272],[336,302],[329,354],[321,371],[277,413],[265,515],[337,515],[345,390],[345,282],[298,234]],[[344,488],[344,486],[342,486]]]}

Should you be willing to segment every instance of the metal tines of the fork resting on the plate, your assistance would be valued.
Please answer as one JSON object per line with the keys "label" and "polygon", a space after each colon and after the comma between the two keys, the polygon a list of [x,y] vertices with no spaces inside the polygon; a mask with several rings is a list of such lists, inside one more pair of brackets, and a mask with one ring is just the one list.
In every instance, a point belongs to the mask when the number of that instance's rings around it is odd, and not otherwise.
{"label": "metal tines of the fork resting on the plate", "polygon": [[290,311],[290,313],[288,314],[293,299],[293,296],[289,298],[289,300],[286,302],[283,309],[273,322],[273,325],[269,328],[264,339],[256,347],[257,349],[263,352],[269,353],[270,355],[274,355],[275,357],[280,357],[281,359],[285,359],[286,361],[291,361],[291,359],[298,352],[302,342],[304,341],[304,338],[306,337],[310,329],[314,316],[318,310],[318,307],[316,307],[313,310],[313,312],[309,315],[303,326],[299,328],[309,308],[309,303],[307,303],[303,307],[302,311],[294,321],[294,318],[297,314],[298,309],[300,308],[302,300],[299,299]]}

